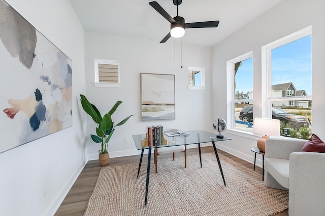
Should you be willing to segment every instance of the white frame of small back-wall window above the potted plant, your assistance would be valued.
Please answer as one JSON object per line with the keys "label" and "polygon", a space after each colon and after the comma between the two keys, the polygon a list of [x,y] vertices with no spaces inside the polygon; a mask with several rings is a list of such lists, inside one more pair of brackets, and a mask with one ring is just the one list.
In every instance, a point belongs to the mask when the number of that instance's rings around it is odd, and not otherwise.
{"label": "white frame of small back-wall window above the potted plant", "polygon": [[[108,65],[117,65],[118,66],[118,82],[100,82],[99,81],[99,64],[108,64]],[[94,59],[94,75],[95,81],[93,82],[95,87],[104,87],[104,88],[120,88],[121,79],[120,79],[120,62],[116,60],[105,60],[105,59]]]}

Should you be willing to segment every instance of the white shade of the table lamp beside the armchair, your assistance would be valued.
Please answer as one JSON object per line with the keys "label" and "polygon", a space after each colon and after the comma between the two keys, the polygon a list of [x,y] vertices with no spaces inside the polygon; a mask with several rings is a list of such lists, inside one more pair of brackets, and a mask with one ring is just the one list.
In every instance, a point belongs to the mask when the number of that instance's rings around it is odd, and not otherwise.
{"label": "white shade of the table lamp beside the armchair", "polygon": [[254,118],[253,133],[280,136],[280,121],[272,118]]}

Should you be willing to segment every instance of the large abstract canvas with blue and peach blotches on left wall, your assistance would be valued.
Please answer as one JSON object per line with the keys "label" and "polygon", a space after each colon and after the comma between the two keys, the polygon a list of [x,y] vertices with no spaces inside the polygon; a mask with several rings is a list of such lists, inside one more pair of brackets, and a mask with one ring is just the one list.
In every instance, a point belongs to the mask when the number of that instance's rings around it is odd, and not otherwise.
{"label": "large abstract canvas with blue and peach blotches on left wall", "polygon": [[0,0],[0,153],[72,125],[72,61]]}

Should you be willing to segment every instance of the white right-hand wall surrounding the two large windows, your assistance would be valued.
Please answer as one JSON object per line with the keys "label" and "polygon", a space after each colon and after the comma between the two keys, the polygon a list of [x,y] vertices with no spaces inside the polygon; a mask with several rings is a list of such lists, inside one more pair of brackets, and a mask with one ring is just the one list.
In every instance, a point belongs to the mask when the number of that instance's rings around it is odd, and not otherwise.
{"label": "white right-hand wall surrounding the two large windows", "polygon": [[[212,82],[220,80],[218,85],[212,85],[212,116],[226,118],[226,61],[253,51],[253,91],[254,116],[262,116],[261,95],[261,47],[312,25],[312,132],[325,140],[323,122],[325,115],[325,98],[323,83],[325,82],[325,1],[283,1],[262,16],[253,20],[233,35],[229,36],[212,49]],[[251,147],[256,146],[255,136],[244,138],[238,134],[227,134],[233,140],[218,143],[218,147],[253,162]],[[257,162],[262,165],[261,160]]]}

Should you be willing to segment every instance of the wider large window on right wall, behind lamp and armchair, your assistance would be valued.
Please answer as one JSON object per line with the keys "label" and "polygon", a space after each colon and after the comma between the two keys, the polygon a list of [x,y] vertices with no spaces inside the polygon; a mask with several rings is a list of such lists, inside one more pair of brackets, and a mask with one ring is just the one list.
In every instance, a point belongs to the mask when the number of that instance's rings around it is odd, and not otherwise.
{"label": "wider large window on right wall, behind lamp and armchair", "polygon": [[280,120],[282,136],[311,136],[311,42],[308,27],[262,48],[267,74],[263,113]]}

